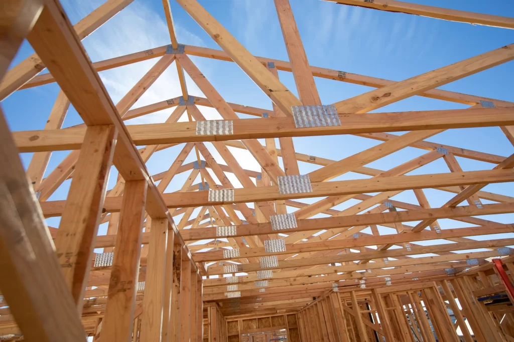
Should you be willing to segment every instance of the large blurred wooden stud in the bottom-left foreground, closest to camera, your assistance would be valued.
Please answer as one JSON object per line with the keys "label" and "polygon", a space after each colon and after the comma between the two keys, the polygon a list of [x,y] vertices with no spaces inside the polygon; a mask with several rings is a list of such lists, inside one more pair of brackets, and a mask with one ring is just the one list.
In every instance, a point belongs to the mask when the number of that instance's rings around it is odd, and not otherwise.
{"label": "large blurred wooden stud in the bottom-left foreground, closest to camera", "polygon": [[85,340],[43,215],[0,110],[0,290],[28,340]]}

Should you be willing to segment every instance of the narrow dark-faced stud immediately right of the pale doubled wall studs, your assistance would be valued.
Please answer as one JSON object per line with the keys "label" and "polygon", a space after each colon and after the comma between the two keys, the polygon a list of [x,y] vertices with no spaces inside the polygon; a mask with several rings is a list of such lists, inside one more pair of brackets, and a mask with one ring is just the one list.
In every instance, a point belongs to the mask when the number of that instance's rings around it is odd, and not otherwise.
{"label": "narrow dark-faced stud immediately right of the pale doubled wall studs", "polygon": [[[177,239],[178,240],[178,239]],[[170,329],[168,334],[172,342],[180,340],[180,285],[182,271],[182,246],[173,245],[173,278],[171,285],[171,311],[170,311]]]}

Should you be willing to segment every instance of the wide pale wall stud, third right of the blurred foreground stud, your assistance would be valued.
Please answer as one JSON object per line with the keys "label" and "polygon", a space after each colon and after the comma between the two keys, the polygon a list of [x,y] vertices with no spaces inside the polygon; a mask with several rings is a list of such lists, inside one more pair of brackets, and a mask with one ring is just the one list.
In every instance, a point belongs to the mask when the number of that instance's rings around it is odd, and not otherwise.
{"label": "wide pale wall stud, third right of the blurred foreground stud", "polygon": [[[170,234],[173,234],[173,232],[170,232]],[[161,340],[167,247],[168,219],[151,219],[149,253],[146,261],[146,280],[144,284],[145,295],[141,318],[141,339],[143,341],[159,342]]]}

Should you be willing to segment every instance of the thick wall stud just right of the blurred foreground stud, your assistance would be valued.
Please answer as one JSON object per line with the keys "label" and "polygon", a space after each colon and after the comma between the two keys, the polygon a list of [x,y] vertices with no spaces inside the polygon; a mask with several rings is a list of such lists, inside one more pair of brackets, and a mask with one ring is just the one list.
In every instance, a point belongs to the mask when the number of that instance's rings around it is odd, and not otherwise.
{"label": "thick wall stud just right of the blurred foreground stud", "polygon": [[114,126],[87,128],[56,238],[56,252],[79,313],[116,144]]}

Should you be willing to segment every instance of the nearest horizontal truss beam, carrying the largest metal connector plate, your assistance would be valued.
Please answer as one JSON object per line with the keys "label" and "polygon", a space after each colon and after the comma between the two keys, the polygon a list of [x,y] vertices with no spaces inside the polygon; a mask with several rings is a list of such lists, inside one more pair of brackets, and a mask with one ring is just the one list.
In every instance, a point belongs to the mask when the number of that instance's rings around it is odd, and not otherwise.
{"label": "nearest horizontal truss beam, carrying the largest metal connector plate", "polygon": [[[235,114],[234,114],[235,115]],[[298,129],[291,117],[231,119],[233,134],[198,135],[196,122],[127,126],[136,145],[217,142],[236,139],[260,139],[292,136],[322,136],[368,132],[422,131],[490,127],[514,124],[514,107],[477,108],[438,111],[370,113],[339,115],[341,126]],[[20,131],[14,138],[20,152],[42,152],[79,149],[85,128]],[[433,134],[431,134],[433,135]],[[246,146],[248,143],[243,142]],[[386,143],[384,143],[386,144]],[[387,146],[389,144],[386,144]],[[250,146],[252,153],[255,149]],[[335,164],[340,164],[339,162]],[[325,167],[327,168],[327,167]],[[267,171],[269,168],[266,167]],[[311,174],[316,174],[312,172]],[[314,177],[314,176],[313,176]],[[274,182],[276,183],[276,182]]]}

